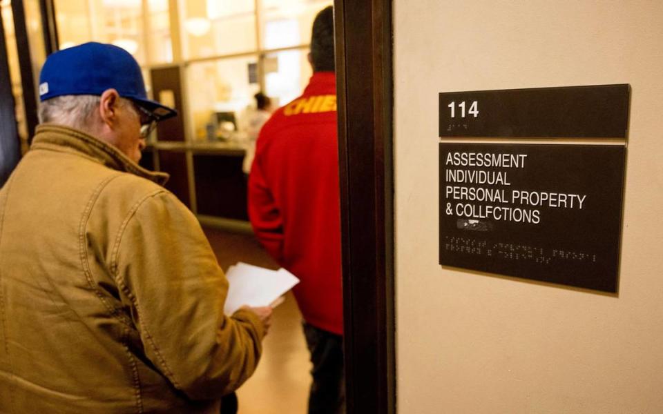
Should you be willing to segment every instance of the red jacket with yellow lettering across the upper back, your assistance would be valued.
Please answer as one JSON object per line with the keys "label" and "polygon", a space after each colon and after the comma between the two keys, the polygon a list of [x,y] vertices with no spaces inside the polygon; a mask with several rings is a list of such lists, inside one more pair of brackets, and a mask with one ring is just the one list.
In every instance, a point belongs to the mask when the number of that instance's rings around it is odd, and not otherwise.
{"label": "red jacket with yellow lettering across the upper back", "polygon": [[334,72],[316,72],[301,97],[262,127],[249,176],[249,218],[276,261],[300,278],[306,322],[343,334]]}

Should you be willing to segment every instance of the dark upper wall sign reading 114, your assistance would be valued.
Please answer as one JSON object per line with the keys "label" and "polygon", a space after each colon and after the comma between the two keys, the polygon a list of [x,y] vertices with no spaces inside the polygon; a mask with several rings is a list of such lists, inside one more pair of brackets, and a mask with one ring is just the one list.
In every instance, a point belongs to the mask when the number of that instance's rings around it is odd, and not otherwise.
{"label": "dark upper wall sign reading 114", "polygon": [[626,138],[629,86],[443,92],[440,137]]}

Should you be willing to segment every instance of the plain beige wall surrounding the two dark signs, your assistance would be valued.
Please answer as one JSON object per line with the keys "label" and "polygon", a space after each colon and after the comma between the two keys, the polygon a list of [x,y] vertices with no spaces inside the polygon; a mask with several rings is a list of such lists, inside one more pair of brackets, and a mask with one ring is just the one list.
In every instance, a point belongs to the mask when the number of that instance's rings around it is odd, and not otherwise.
{"label": "plain beige wall surrounding the two dark signs", "polygon": [[[663,413],[663,1],[394,0],[398,413]],[[619,295],[438,264],[437,92],[630,83]]]}

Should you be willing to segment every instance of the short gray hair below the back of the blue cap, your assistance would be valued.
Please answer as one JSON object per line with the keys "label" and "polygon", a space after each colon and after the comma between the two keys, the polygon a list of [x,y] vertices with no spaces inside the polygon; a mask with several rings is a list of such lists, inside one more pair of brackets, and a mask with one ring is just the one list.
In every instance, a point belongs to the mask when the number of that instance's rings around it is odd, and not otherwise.
{"label": "short gray hair below the back of the blue cap", "polygon": [[99,108],[97,95],[63,95],[39,103],[39,123],[88,130]]}

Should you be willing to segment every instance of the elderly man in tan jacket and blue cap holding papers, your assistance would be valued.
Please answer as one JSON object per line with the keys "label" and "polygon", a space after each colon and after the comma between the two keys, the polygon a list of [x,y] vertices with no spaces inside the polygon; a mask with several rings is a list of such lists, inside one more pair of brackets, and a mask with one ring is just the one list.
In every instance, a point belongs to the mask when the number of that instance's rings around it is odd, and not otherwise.
{"label": "elderly man in tan jacket and blue cap holding papers", "polygon": [[41,126],[0,190],[0,412],[218,413],[271,308],[224,315],[198,221],[136,164],[175,111],[99,43],[51,55],[39,92]]}

